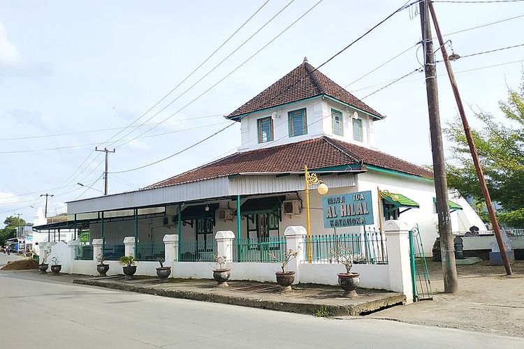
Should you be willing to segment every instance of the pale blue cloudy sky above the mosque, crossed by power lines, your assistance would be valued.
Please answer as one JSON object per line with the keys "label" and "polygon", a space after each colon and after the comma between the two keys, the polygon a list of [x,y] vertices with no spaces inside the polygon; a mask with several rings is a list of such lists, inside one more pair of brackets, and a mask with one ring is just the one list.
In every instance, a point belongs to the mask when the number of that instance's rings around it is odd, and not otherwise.
{"label": "pale blue cloudy sky above the mosque, crossed by power lines", "polygon": [[[31,222],[45,193],[54,195],[48,216],[66,211],[64,202],[101,195],[104,154],[94,147],[116,149],[110,172],[176,154],[228,126],[224,115],[304,57],[321,65],[405,3],[290,1],[1,0],[0,220],[21,214]],[[524,1],[435,2],[435,11],[443,34],[505,20],[446,36],[448,50],[460,56],[524,43]],[[395,14],[320,71],[387,116],[374,124],[379,150],[430,165],[423,73],[381,89],[421,67],[417,12],[412,6]],[[500,116],[498,102],[521,83],[523,60],[521,46],[453,62],[472,126],[482,125],[471,108]],[[457,108],[442,63],[437,74],[445,124]],[[239,145],[235,124],[166,161],[110,174],[109,193],[142,188]]]}

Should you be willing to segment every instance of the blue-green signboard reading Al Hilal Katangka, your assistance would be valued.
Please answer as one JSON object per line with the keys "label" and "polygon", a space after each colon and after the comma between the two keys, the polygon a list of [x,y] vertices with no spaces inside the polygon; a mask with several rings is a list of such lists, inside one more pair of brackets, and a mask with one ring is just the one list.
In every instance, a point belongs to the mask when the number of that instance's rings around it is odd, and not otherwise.
{"label": "blue-green signboard reading Al Hilal Katangka", "polygon": [[322,198],[324,228],[373,224],[371,191],[358,191]]}

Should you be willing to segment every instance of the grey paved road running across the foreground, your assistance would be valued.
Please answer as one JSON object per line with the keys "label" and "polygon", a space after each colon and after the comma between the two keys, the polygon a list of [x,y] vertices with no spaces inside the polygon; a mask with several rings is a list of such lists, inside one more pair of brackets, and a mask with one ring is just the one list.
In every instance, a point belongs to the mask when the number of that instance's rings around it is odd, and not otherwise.
{"label": "grey paved road running across the foreground", "polygon": [[[0,254],[0,264],[2,264]],[[4,261],[5,263],[5,261]],[[0,348],[524,348],[524,339],[171,299],[0,272]]]}

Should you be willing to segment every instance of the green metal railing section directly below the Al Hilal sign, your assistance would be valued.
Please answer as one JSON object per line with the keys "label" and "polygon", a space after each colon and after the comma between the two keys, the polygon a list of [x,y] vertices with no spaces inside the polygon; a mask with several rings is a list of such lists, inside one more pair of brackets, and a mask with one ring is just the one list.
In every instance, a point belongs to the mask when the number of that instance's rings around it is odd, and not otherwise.
{"label": "green metal railing section directly below the Al Hilal sign", "polygon": [[336,262],[335,255],[351,253],[354,263],[388,264],[386,237],[378,232],[363,232],[359,234],[313,235],[311,242],[304,238],[307,256],[311,249],[312,263],[332,264]]}

